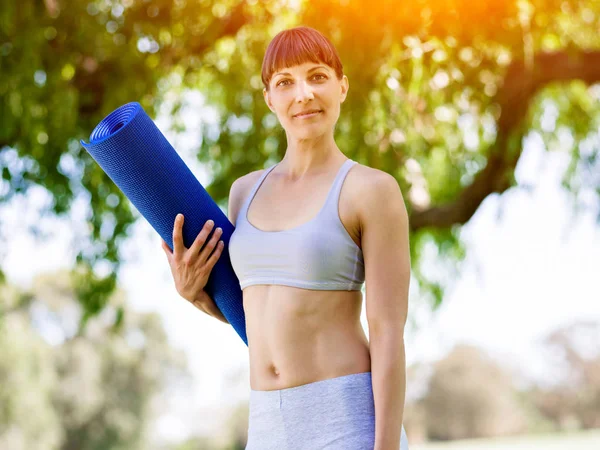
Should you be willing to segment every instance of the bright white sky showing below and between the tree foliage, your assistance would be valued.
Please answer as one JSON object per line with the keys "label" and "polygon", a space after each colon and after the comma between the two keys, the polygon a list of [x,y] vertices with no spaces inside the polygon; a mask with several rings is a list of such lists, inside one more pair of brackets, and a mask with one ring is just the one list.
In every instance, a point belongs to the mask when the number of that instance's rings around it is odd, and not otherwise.
{"label": "bright white sky showing below and between the tree foliage", "polygon": [[[201,137],[197,120],[211,120],[201,99],[189,97],[183,120],[192,131],[175,135],[169,120],[159,115],[157,126],[184,161],[206,185],[209,175],[195,161],[193,149]],[[197,113],[200,111],[200,114]],[[91,130],[90,130],[91,131]],[[586,319],[600,321],[600,293],[595,276],[600,254],[598,204],[575,217],[560,177],[568,153],[546,152],[535,136],[525,141],[516,170],[519,186],[491,195],[463,227],[467,257],[459,279],[446,292],[435,312],[419,301],[411,284],[407,364],[432,362],[458,343],[486,349],[490,355],[518,367],[532,379],[547,377],[548,362],[540,356],[540,340],[553,329]],[[27,287],[44,271],[70,267],[74,232],[82,229],[86,201],[80,199],[70,218],[40,219],[47,201],[42,189],[16,197],[0,208],[7,248],[0,251],[8,281]],[[32,238],[36,225],[52,237]],[[156,311],[164,320],[169,340],[186,352],[193,384],[174,387],[168,407],[153,430],[156,439],[177,440],[221,427],[228,408],[248,402],[248,350],[230,325],[195,309],[179,297],[160,237],[141,218],[124,244],[120,282],[133,308]],[[435,255],[430,256],[435,264]],[[364,302],[361,321],[368,335]],[[410,385],[407,395],[410,395]],[[190,391],[191,389],[191,391]]]}

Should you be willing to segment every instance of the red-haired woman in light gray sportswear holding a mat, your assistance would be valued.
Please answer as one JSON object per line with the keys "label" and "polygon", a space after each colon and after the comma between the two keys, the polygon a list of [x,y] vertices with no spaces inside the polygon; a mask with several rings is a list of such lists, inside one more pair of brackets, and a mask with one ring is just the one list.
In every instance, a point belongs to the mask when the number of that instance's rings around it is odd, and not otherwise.
{"label": "red-haired woman in light gray sportswear holding a mat", "polygon": [[[318,31],[279,33],[262,80],[287,150],[278,164],[233,183],[228,211],[250,352],[246,449],[404,450],[410,260],[398,183],[336,145],[349,84]],[[199,252],[213,224],[189,249],[182,225],[178,218],[173,253],[163,242],[176,288],[227,323],[203,291],[221,234]],[[364,281],[369,340],[360,323]]]}

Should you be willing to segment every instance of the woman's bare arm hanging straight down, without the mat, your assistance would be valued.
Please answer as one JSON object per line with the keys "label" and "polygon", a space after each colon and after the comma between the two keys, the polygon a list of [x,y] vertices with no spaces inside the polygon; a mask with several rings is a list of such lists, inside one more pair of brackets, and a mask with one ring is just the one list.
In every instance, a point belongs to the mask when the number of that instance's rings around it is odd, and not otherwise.
{"label": "woman's bare arm hanging straight down, without the mat", "polygon": [[406,390],[408,214],[398,182],[381,171],[372,176],[362,191],[366,198],[361,202],[360,220],[375,400],[374,450],[398,450]]}

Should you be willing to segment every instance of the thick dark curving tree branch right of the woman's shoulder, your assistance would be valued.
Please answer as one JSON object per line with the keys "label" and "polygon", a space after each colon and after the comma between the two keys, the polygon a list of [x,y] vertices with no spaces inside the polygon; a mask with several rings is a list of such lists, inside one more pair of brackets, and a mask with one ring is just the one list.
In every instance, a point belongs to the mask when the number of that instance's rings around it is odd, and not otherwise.
{"label": "thick dark curving tree branch right of the woman's shoulder", "polygon": [[511,187],[512,175],[523,150],[523,132],[519,127],[532,97],[550,82],[575,79],[588,84],[600,81],[600,51],[538,54],[531,71],[526,69],[524,61],[513,62],[496,95],[501,114],[497,123],[498,137],[487,165],[455,201],[428,209],[413,206],[411,230],[464,224],[488,195],[502,193]]}

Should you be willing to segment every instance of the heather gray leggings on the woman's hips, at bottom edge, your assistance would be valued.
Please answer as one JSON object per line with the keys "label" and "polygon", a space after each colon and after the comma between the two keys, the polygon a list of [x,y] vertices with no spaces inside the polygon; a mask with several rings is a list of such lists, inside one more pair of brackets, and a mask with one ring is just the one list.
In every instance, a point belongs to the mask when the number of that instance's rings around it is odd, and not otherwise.
{"label": "heather gray leggings on the woman's hips, at bottom edge", "polygon": [[[274,391],[250,390],[246,450],[373,450],[371,372]],[[400,450],[408,450],[402,427]]]}

